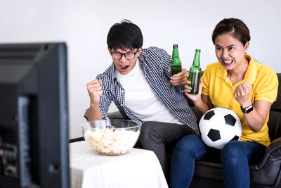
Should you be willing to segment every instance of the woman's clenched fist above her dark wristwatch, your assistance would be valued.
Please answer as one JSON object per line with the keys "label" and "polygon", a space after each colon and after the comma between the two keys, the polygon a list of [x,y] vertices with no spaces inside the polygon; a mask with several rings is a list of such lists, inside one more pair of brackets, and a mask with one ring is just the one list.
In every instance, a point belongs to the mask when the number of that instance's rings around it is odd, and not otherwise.
{"label": "woman's clenched fist above her dark wristwatch", "polygon": [[251,106],[251,85],[247,82],[239,84],[234,90],[234,97],[240,106],[244,109]]}

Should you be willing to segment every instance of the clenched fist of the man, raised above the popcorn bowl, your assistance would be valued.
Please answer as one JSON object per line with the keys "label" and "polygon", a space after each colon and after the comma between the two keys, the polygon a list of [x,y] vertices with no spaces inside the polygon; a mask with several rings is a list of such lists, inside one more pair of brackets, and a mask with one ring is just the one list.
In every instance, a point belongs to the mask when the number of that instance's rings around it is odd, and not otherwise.
{"label": "clenched fist of the man, raised above the popcorn bowl", "polygon": [[100,85],[103,84],[102,80],[93,80],[87,84],[89,96],[91,98],[91,105],[98,106],[100,96],[103,94]]}

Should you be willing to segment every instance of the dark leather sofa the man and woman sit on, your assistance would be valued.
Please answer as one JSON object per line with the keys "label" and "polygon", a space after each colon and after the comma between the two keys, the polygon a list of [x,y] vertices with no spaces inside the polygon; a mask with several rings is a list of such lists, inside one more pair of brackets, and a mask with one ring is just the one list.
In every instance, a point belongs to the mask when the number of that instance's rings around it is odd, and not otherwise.
{"label": "dark leather sofa the man and woman sit on", "polygon": [[[277,77],[281,83],[281,73],[277,73]],[[200,115],[195,111],[192,101],[187,100],[199,122]],[[110,113],[108,116],[109,118],[123,118],[119,112]],[[281,188],[281,84],[278,86],[277,99],[270,108],[268,127],[272,143],[267,147],[262,158],[249,163],[251,188]],[[171,162],[171,156],[168,157]],[[219,156],[212,155],[202,161],[197,161],[190,187],[224,187],[220,163]]]}

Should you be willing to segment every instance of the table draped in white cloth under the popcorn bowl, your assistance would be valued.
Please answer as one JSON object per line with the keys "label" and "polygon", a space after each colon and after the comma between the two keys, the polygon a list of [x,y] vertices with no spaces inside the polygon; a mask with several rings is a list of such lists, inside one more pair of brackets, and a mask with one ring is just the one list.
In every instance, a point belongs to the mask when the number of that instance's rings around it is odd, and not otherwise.
{"label": "table draped in white cloth under the popcorn bowl", "polygon": [[72,188],[168,187],[153,151],[133,148],[121,156],[103,156],[86,141],[70,144],[70,177]]}

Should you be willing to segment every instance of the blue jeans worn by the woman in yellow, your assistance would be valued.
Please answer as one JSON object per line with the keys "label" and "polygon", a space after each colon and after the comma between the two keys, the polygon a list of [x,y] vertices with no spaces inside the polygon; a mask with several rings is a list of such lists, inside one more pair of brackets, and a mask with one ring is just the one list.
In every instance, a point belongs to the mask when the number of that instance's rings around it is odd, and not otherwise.
{"label": "blue jeans worn by the woman in yellow", "polygon": [[[263,155],[266,146],[258,142],[231,141],[221,151],[223,181],[226,187],[250,186],[248,161]],[[183,137],[174,149],[171,162],[171,188],[188,187],[192,180],[195,161],[209,153],[210,148],[198,135]]]}

